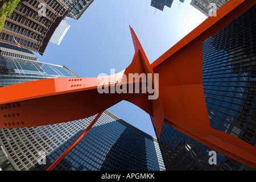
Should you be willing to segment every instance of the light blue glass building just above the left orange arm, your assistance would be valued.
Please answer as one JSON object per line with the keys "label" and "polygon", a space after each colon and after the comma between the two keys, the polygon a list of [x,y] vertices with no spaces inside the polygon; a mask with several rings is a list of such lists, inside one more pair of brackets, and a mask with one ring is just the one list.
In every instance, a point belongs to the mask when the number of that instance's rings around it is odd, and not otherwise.
{"label": "light blue glass building just above the left orange arm", "polygon": [[56,77],[77,77],[65,66],[0,55],[0,87]]}

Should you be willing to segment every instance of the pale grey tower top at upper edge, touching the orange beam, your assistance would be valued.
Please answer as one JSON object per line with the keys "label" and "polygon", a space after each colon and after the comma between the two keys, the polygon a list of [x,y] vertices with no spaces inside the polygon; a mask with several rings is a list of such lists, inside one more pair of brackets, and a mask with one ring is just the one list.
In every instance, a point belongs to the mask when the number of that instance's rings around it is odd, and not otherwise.
{"label": "pale grey tower top at upper edge, touching the orange beam", "polygon": [[[208,17],[214,13],[213,9],[214,11],[218,10],[228,1],[229,0],[192,0],[190,5]],[[214,5],[212,5],[212,3],[214,3]]]}

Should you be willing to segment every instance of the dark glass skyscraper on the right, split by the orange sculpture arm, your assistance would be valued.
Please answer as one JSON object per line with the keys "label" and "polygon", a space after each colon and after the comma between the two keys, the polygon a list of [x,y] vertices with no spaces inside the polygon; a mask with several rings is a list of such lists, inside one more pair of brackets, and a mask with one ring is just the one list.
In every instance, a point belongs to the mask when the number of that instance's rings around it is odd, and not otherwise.
{"label": "dark glass skyscraper on the right, split by the orange sculpture arm", "polygon": [[[203,43],[203,86],[210,125],[256,146],[256,6]],[[164,124],[167,170],[252,170]]]}

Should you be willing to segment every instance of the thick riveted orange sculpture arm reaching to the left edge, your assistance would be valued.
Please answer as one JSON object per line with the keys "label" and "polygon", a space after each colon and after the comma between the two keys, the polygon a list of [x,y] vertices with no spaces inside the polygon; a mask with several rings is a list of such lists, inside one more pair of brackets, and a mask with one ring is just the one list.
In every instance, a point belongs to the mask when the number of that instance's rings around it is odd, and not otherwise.
{"label": "thick riveted orange sculpture arm reaching to the left edge", "polygon": [[[98,78],[48,78],[0,88],[0,128],[42,126],[90,117],[135,93],[129,73],[144,73],[138,51],[129,67],[115,75]],[[133,86],[134,92],[99,93]],[[139,88],[141,89],[141,87]],[[151,112],[150,107],[144,107]]]}

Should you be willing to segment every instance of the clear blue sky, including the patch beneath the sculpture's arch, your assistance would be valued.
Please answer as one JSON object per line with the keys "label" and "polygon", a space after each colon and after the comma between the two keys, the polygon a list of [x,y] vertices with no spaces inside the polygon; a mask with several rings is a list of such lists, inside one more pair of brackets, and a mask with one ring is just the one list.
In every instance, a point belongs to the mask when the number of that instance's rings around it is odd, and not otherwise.
{"label": "clear blue sky, including the patch beneath the sculpture's arch", "polygon": [[[134,56],[129,25],[134,29],[150,63],[179,42],[207,16],[185,0],[164,11],[151,0],[95,0],[71,25],[59,46],[49,42],[38,61],[65,65],[80,77],[97,77],[122,71]],[[155,137],[150,117],[139,107],[122,101],[108,109],[124,121]]]}

